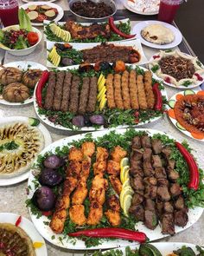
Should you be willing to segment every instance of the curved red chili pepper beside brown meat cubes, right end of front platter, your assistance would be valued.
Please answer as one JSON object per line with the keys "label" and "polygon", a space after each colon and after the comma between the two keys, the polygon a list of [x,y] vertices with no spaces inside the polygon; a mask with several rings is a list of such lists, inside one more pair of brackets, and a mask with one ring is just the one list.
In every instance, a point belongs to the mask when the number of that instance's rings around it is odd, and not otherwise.
{"label": "curved red chili pepper beside brown meat cubes, right end of front platter", "polygon": [[190,173],[190,181],[188,183],[188,187],[190,189],[197,190],[199,187],[199,170],[197,167],[196,162],[194,161],[194,157],[192,154],[188,152],[186,148],[182,146],[181,143],[175,142],[176,148],[180,151],[182,156],[184,157],[185,161],[187,161],[188,169]]}

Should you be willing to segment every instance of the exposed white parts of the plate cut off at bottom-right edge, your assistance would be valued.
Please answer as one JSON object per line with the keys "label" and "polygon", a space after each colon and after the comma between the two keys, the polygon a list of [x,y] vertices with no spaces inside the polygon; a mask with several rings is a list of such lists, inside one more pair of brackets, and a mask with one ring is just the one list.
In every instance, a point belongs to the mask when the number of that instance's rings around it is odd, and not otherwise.
{"label": "exposed white parts of the plate cut off at bottom-right edge", "polygon": [[[173,251],[181,249],[182,246],[190,247],[194,251],[194,253],[199,253],[196,250],[196,246],[194,244],[188,244],[188,243],[160,242],[160,243],[150,243],[150,245],[155,246],[160,251],[160,253],[162,253],[163,256],[164,255],[165,256],[166,255],[170,256],[170,253],[173,253]],[[139,245],[134,245],[134,246],[130,246],[130,247],[131,247],[132,250],[135,250],[136,248],[137,249],[139,248]],[[118,248],[118,249],[123,252],[123,255],[125,255],[125,247]],[[115,249],[115,250],[117,250],[117,249]],[[109,250],[105,251],[104,253],[106,253],[106,252],[109,252]]]}

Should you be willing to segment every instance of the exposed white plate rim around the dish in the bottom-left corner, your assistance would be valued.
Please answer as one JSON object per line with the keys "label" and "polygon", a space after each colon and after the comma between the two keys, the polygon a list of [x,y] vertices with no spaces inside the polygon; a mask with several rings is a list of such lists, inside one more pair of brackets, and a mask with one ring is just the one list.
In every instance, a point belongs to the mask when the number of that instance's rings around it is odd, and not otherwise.
{"label": "exposed white plate rim around the dish in the bottom-left corner", "polygon": [[[16,220],[19,217],[20,216],[16,213],[0,213],[0,223],[10,223],[15,225]],[[43,240],[41,235],[36,231],[33,223],[30,220],[22,217],[19,227],[21,227],[25,233],[29,235],[29,238],[33,242],[41,242],[43,244],[40,248],[35,249],[36,256],[48,256],[45,240]]]}

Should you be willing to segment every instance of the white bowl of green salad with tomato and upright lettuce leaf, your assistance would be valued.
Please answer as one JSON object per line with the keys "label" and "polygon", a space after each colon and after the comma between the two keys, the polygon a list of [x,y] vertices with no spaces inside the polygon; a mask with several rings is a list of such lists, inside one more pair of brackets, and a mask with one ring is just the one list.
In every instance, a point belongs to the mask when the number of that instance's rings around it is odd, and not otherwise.
{"label": "white bowl of green salad with tomato and upright lettuce leaf", "polygon": [[0,48],[14,56],[27,56],[41,42],[41,31],[31,26],[23,9],[18,11],[19,25],[0,30]]}

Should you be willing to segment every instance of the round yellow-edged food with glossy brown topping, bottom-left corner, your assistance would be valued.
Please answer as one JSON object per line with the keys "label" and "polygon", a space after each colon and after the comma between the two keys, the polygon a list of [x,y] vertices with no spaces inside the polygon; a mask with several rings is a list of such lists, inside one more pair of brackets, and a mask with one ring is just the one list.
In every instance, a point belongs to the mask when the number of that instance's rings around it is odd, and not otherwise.
{"label": "round yellow-edged food with glossy brown topping, bottom-left corner", "polygon": [[[3,243],[4,249],[11,249],[11,252],[13,251],[12,253],[15,253],[16,256],[36,255],[32,240],[19,226],[10,223],[0,223],[0,243]],[[0,249],[0,255],[6,255],[3,253],[4,249]]]}

